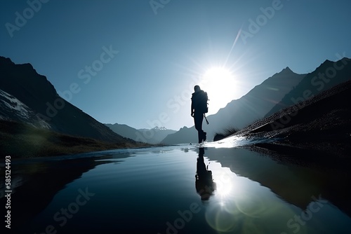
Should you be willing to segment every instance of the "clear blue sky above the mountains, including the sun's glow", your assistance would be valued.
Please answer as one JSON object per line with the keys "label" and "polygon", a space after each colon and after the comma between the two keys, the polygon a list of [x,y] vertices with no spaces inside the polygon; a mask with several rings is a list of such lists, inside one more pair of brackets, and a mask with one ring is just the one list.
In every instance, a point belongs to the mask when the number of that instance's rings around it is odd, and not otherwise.
{"label": "clear blue sky above the mountains, including the sun's glow", "polygon": [[[178,130],[195,83],[216,113],[285,67],[351,57],[350,22],[348,0],[2,0],[0,55],[102,123]],[[230,78],[204,78],[213,67]]]}

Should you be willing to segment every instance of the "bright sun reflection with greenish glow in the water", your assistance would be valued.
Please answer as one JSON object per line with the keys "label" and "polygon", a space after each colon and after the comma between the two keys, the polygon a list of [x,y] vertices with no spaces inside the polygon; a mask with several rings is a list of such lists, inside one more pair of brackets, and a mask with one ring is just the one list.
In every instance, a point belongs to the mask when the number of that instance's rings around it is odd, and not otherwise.
{"label": "bright sun reflection with greenish glow in the water", "polygon": [[[256,183],[246,177],[237,176],[227,167],[215,168],[212,165],[212,170],[216,191],[206,209],[208,225],[220,233],[255,230],[253,221],[267,211],[264,199],[252,190],[252,185]],[[243,226],[243,223],[248,225]]]}

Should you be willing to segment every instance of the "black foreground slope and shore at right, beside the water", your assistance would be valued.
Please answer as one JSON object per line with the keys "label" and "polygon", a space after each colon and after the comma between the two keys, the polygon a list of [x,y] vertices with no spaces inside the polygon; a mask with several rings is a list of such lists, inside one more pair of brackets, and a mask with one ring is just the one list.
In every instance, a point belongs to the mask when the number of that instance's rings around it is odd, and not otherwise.
{"label": "black foreground slope and shore at right, beside the water", "polygon": [[254,144],[269,154],[328,155],[350,158],[351,80],[257,121],[234,135],[274,139]]}

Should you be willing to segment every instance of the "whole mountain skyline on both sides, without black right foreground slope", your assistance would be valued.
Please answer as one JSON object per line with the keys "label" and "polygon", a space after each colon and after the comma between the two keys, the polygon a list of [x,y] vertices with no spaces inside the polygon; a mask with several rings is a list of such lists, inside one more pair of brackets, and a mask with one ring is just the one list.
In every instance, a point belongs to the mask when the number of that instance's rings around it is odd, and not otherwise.
{"label": "whole mountain skyline on both sides, without black right foreground slope", "polygon": [[[326,60],[309,74],[296,74],[286,67],[243,97],[232,100],[218,113],[208,116],[209,125],[204,123],[207,139],[212,141],[218,132],[231,128],[242,129],[259,119],[277,113],[286,106],[309,99],[350,80],[350,74],[351,60],[348,58],[337,62]],[[5,57],[0,57],[0,121],[0,140],[3,144],[1,147],[6,146],[6,149],[17,149],[19,148],[17,146],[23,144],[18,142],[19,140],[30,138],[31,141],[26,142],[29,147],[35,142],[35,137],[43,138],[39,134],[46,135],[47,144],[59,142],[61,147],[59,149],[72,146],[69,141],[95,146],[105,142],[103,144],[118,144],[122,147],[140,146],[141,142],[147,144],[197,142],[194,127],[184,127],[178,131],[165,128],[137,130],[118,123],[105,125],[99,123],[62,99],[46,77],[37,74],[31,64],[14,64]],[[10,130],[7,125],[13,126],[13,129]]]}

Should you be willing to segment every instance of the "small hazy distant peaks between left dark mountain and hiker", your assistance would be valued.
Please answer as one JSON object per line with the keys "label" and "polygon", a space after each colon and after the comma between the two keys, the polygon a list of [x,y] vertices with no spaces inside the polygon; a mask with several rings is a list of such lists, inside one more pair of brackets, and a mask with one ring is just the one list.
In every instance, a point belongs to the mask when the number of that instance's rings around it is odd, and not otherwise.
{"label": "small hazy distant peaks between left dark mountain and hiker", "polygon": [[133,139],[136,142],[145,142],[147,144],[159,144],[167,135],[177,132],[166,128],[155,127],[152,129],[135,129],[125,124],[110,124],[105,125],[117,134]]}

